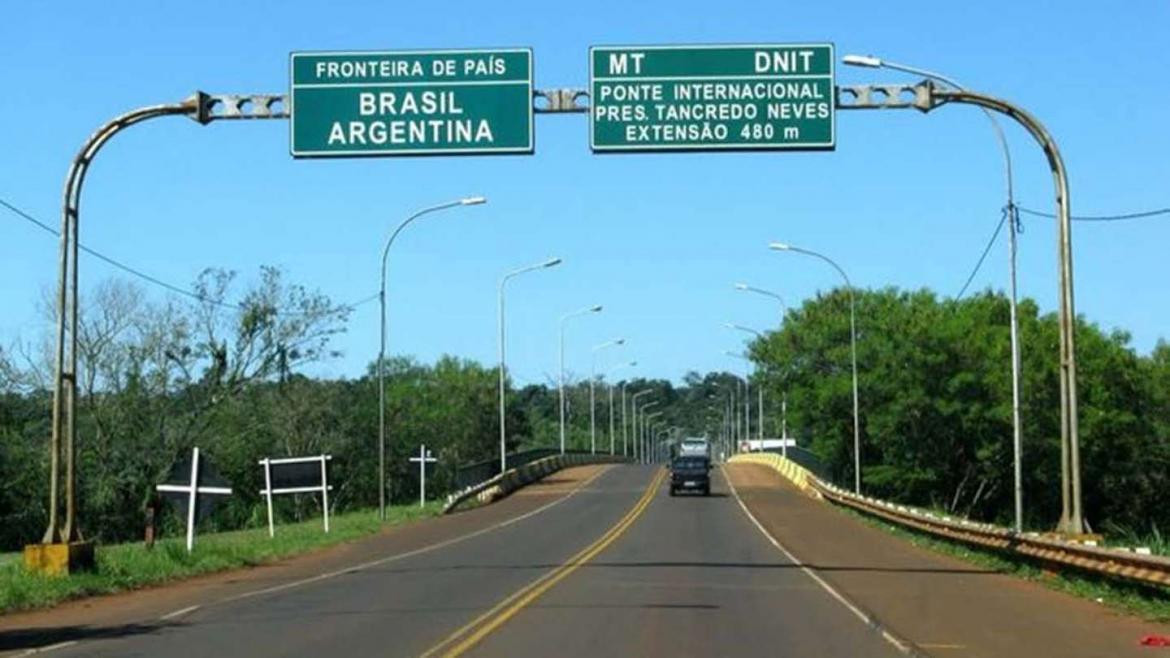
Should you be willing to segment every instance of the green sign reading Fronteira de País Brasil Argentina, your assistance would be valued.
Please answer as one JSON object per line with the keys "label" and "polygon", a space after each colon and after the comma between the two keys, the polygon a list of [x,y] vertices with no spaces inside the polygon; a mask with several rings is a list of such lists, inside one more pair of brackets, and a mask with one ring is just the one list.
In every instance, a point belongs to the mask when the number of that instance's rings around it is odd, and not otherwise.
{"label": "green sign reading Fronteira de Pa\u00eds Brasil Argentina", "polygon": [[294,157],[532,152],[532,50],[292,53]]}

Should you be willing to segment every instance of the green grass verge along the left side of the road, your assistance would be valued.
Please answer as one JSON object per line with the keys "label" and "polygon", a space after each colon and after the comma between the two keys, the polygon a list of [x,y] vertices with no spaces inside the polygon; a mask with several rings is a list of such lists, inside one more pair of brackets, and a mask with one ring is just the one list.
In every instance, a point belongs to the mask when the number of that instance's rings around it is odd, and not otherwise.
{"label": "green grass verge along the left side of the road", "polygon": [[379,523],[376,509],[350,512],[329,519],[329,534],[322,532],[321,519],[316,519],[277,526],[273,539],[268,537],[267,527],[197,535],[191,554],[183,537],[160,540],[150,550],[140,542],[98,546],[96,570],[61,577],[26,571],[14,555],[0,555],[0,614],[263,564],[365,537],[384,527],[434,516],[441,509],[438,501],[426,507],[390,507],[385,526]]}

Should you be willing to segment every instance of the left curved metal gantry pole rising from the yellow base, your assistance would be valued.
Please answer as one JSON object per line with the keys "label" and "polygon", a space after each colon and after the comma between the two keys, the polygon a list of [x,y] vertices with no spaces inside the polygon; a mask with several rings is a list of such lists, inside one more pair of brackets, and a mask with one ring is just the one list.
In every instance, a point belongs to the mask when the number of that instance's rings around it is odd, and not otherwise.
{"label": "left curved metal gantry pole rising from the yellow base", "polygon": [[[81,540],[76,505],[76,398],[77,398],[77,256],[81,192],[94,158],[111,137],[147,119],[183,115],[197,116],[199,97],[181,103],[147,105],[115,117],[95,131],[82,145],[66,176],[61,212],[61,253],[57,283],[56,379],[53,388],[53,433],[49,443],[49,526],[43,543]],[[68,358],[66,325],[69,330]],[[67,368],[68,361],[68,368]],[[63,445],[62,445],[63,444]],[[61,526],[61,453],[64,451],[64,525]]]}

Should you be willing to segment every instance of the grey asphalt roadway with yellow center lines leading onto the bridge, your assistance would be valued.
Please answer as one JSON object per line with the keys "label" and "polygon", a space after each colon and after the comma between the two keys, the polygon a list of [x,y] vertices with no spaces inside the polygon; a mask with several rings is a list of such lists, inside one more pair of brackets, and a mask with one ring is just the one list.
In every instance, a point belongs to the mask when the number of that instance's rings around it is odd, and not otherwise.
{"label": "grey asphalt roadway with yellow center lines leading onto the bridge", "polygon": [[615,466],[503,527],[53,654],[897,654],[785,560],[718,471],[710,498],[669,498],[660,474]]}

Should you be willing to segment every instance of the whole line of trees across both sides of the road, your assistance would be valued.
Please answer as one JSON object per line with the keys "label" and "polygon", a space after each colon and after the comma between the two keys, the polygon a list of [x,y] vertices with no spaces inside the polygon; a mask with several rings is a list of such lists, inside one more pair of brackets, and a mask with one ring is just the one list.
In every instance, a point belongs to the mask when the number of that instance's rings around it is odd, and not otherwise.
{"label": "whole line of trees across both sides of the road", "polygon": [[[125,281],[83,299],[78,330],[78,503],[83,532],[103,542],[142,536],[153,487],[192,446],[236,494],[208,521],[264,522],[257,460],[332,455],[333,512],[378,501],[378,378],[374,361],[355,378],[305,375],[337,355],[331,342],[350,310],[263,268],[240,301],[229,272],[197,281],[198,301],[151,301]],[[852,482],[853,419],[848,294],[832,290],[792,309],[750,344],[752,388],[765,395],[765,434],[789,427],[839,482]],[[1012,516],[1009,308],[983,293],[962,301],[929,290],[858,290],[862,481],[866,493],[1007,523]],[[1026,526],[1051,528],[1060,512],[1058,330],[1025,300],[1023,361]],[[1170,484],[1170,345],[1140,355],[1123,331],[1078,328],[1081,462],[1087,518],[1096,529],[1170,527],[1161,496]],[[47,523],[50,350],[0,349],[0,550],[40,537]],[[387,486],[393,502],[418,496],[420,444],[439,458],[428,492],[455,486],[461,465],[498,455],[495,366],[445,356],[387,358]],[[680,383],[632,378],[653,390],[662,427],[724,438],[729,372],[688,372]],[[752,392],[751,413],[757,413]],[[508,450],[559,444],[552,383],[509,386]],[[570,448],[590,446],[589,383],[567,391]],[[735,409],[742,406],[736,397]],[[620,393],[615,445],[622,448]],[[608,395],[598,388],[598,447],[608,451]],[[628,421],[628,406],[626,419]],[[753,426],[755,434],[755,426]],[[288,519],[319,513],[309,495],[281,501]]]}

